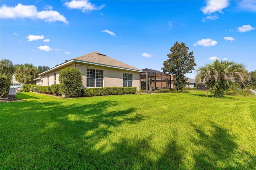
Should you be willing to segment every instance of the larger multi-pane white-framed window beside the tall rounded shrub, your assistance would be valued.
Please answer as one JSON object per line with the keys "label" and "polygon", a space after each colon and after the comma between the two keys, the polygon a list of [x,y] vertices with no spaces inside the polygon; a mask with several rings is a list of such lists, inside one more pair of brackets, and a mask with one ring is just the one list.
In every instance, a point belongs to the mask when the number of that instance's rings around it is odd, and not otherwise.
{"label": "larger multi-pane white-framed window beside the tall rounded shrub", "polygon": [[86,87],[103,87],[103,70],[87,69]]}

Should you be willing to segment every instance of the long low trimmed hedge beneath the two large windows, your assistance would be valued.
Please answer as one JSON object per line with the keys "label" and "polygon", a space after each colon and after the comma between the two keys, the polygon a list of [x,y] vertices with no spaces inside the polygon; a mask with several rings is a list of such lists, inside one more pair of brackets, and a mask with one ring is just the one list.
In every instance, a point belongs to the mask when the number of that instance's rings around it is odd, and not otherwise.
{"label": "long low trimmed hedge beneath the two large windows", "polygon": [[81,96],[105,96],[105,95],[123,95],[135,94],[136,87],[100,87],[81,89]]}

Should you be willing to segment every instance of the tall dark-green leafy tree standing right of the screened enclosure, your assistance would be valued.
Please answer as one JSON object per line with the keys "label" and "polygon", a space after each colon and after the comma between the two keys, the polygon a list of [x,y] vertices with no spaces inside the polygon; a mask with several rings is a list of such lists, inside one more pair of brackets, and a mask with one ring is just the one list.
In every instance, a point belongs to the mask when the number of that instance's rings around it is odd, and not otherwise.
{"label": "tall dark-green leafy tree standing right of the screened enclosure", "polygon": [[174,85],[177,90],[182,90],[185,87],[187,81],[185,74],[192,73],[196,66],[193,51],[188,52],[188,49],[183,42],[174,43],[170,49],[172,53],[167,54],[168,59],[164,61],[164,67],[162,67],[164,73],[172,74],[175,77]]}

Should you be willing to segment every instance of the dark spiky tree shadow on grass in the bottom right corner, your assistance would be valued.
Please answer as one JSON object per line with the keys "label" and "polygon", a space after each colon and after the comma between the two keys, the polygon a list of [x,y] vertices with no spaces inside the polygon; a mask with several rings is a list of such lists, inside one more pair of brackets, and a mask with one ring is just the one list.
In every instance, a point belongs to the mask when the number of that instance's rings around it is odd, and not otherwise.
{"label": "dark spiky tree shadow on grass in the bottom right corner", "polygon": [[[198,134],[198,138],[192,138],[192,142],[200,147],[199,152],[194,152],[196,169],[250,169],[255,168],[255,156],[244,151],[239,151],[239,155],[249,156],[249,160],[243,164],[235,158],[238,144],[234,138],[228,134],[228,131],[219,127],[216,123],[210,122],[212,132],[206,132],[204,129],[192,125]],[[223,166],[225,165],[225,166]]]}

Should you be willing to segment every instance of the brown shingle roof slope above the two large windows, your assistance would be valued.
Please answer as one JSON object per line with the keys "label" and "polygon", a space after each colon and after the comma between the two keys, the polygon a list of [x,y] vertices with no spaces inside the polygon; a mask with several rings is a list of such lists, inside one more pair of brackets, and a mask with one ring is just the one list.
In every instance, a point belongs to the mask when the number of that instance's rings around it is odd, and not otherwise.
{"label": "brown shingle roof slope above the two large windows", "polygon": [[125,69],[133,69],[133,70],[141,71],[140,69],[132,67],[131,65],[128,65],[126,63],[123,63],[123,62],[113,59],[111,57],[108,57],[108,56],[106,56],[102,53],[99,53],[97,51],[94,51],[92,53],[88,53],[85,55],[81,55],[80,57],[76,57],[74,59],[80,60],[80,61],[87,61],[90,63],[98,63],[98,64],[102,64],[102,65],[106,65],[106,66],[114,66],[114,67],[120,67],[120,68],[125,68]]}

